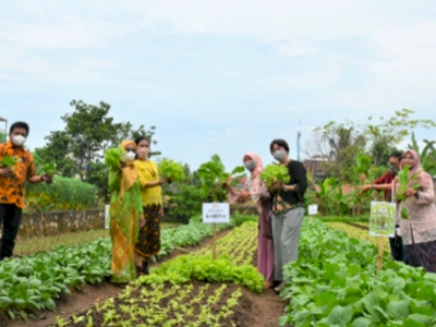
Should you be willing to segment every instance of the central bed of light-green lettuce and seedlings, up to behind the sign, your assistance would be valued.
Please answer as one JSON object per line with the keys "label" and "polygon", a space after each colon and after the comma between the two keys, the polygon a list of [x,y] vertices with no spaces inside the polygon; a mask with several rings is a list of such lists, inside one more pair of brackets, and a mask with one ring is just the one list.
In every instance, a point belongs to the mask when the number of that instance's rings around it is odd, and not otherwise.
{"label": "central bed of light-green lettuce and seedlings, up to behind the sign", "polygon": [[[262,292],[262,275],[243,264],[253,258],[256,247],[247,239],[256,240],[256,223],[245,222],[220,239],[217,259],[203,250],[181,255],[140,277],[118,298],[69,320],[59,318],[58,326],[256,326],[252,304],[237,286]],[[235,251],[239,242],[249,250]]]}

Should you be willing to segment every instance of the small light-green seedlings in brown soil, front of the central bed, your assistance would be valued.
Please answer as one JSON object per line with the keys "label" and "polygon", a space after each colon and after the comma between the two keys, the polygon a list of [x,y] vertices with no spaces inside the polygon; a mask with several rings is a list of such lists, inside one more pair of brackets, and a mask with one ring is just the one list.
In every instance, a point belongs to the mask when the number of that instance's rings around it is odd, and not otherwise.
{"label": "small light-green seedlings in brown soil, front of the central bed", "polygon": [[251,306],[243,302],[235,284],[160,283],[126,289],[119,298],[72,317],[72,324],[59,318],[58,326],[253,326],[253,322],[239,322],[238,306]]}

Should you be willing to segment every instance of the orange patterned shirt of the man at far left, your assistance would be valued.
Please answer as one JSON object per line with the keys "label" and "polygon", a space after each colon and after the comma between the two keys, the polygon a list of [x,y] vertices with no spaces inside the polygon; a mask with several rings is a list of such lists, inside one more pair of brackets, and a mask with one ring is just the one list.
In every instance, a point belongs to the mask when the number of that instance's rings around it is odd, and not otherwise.
{"label": "orange patterned shirt of the man at far left", "polygon": [[19,162],[13,167],[12,175],[0,175],[0,203],[14,204],[23,209],[25,182],[36,175],[34,157],[23,147],[14,147],[10,141],[0,144],[0,160],[5,156],[16,158]]}

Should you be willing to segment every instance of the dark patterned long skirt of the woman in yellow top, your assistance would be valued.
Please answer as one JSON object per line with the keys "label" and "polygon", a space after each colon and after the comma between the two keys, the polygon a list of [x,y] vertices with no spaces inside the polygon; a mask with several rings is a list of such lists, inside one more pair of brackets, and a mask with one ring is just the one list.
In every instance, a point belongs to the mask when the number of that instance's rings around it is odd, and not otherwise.
{"label": "dark patterned long skirt of the woman in yellow top", "polygon": [[160,251],[160,205],[144,207],[145,225],[140,228],[135,251],[145,259],[149,259]]}

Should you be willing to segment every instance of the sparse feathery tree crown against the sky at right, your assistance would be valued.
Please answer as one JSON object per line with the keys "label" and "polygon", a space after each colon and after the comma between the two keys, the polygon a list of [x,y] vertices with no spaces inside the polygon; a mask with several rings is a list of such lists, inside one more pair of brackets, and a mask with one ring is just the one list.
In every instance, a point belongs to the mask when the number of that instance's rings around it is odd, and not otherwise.
{"label": "sparse feathery tree crown against the sky at right", "polygon": [[315,129],[317,134],[312,142],[315,146],[312,147],[316,153],[312,150],[312,155],[329,158],[324,164],[327,177],[354,183],[358,175],[353,172],[353,167],[360,154],[370,155],[375,167],[386,166],[389,155],[413,129],[436,126],[433,120],[413,119],[413,113],[410,109],[397,110],[388,119],[380,117],[377,123],[373,117],[368,117],[368,123],[358,125],[351,121],[329,122]]}

